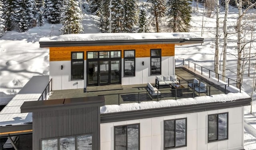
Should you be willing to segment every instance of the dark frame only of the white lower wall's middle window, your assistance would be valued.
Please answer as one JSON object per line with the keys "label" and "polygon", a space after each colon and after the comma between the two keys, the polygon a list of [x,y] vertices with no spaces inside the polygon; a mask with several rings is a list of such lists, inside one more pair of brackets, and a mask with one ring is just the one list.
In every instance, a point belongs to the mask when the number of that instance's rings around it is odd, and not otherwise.
{"label": "dark frame only of the white lower wall's middle window", "polygon": [[[185,139],[186,139],[186,141],[185,141],[185,145],[182,145],[182,146],[176,146],[176,120],[183,120],[183,119],[185,119]],[[174,149],[174,148],[181,148],[181,147],[186,147],[187,146],[187,139],[188,139],[188,128],[187,128],[187,118],[178,118],[178,119],[170,119],[170,120],[164,120],[164,123],[166,122],[166,121],[172,121],[172,120],[174,120],[174,147],[165,147],[165,126],[164,126],[164,150],[169,150],[169,149]]]}

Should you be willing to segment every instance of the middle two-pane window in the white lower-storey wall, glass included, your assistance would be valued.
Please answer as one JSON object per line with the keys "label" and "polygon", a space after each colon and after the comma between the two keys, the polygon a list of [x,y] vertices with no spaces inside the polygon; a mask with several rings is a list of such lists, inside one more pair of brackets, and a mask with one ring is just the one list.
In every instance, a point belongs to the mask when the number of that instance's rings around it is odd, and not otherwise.
{"label": "middle two-pane window in the white lower-storey wall, glass included", "polygon": [[187,118],[164,121],[164,149],[187,146]]}

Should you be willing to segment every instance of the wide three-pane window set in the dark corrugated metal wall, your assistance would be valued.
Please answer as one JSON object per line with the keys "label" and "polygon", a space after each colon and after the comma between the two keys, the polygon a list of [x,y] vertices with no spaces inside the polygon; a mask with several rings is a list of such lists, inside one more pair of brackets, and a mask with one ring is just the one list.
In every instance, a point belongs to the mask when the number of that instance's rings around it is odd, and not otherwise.
{"label": "wide three-pane window set in the dark corrugated metal wall", "polygon": [[92,134],[42,140],[42,150],[92,150]]}

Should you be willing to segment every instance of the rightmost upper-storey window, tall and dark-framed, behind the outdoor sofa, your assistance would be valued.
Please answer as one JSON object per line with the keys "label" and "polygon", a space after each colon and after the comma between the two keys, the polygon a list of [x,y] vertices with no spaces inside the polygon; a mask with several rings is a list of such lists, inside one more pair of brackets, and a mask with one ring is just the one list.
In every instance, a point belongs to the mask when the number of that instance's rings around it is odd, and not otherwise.
{"label": "rightmost upper-storey window, tall and dark-framed, behind the outdoor sofa", "polygon": [[150,73],[161,74],[161,49],[150,50]]}

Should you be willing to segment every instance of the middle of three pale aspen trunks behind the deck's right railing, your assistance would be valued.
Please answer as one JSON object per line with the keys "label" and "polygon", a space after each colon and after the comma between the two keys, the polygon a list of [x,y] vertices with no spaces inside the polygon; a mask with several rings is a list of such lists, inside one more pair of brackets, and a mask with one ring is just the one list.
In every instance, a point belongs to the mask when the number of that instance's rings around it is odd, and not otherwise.
{"label": "middle of three pale aspen trunks behind the deck's right railing", "polygon": [[222,81],[226,82],[226,62],[227,62],[227,44],[228,44],[228,31],[227,31],[227,21],[228,21],[228,7],[229,1],[225,0],[225,16],[223,22],[223,32],[224,32],[224,44],[223,44],[223,66],[222,66]]}

